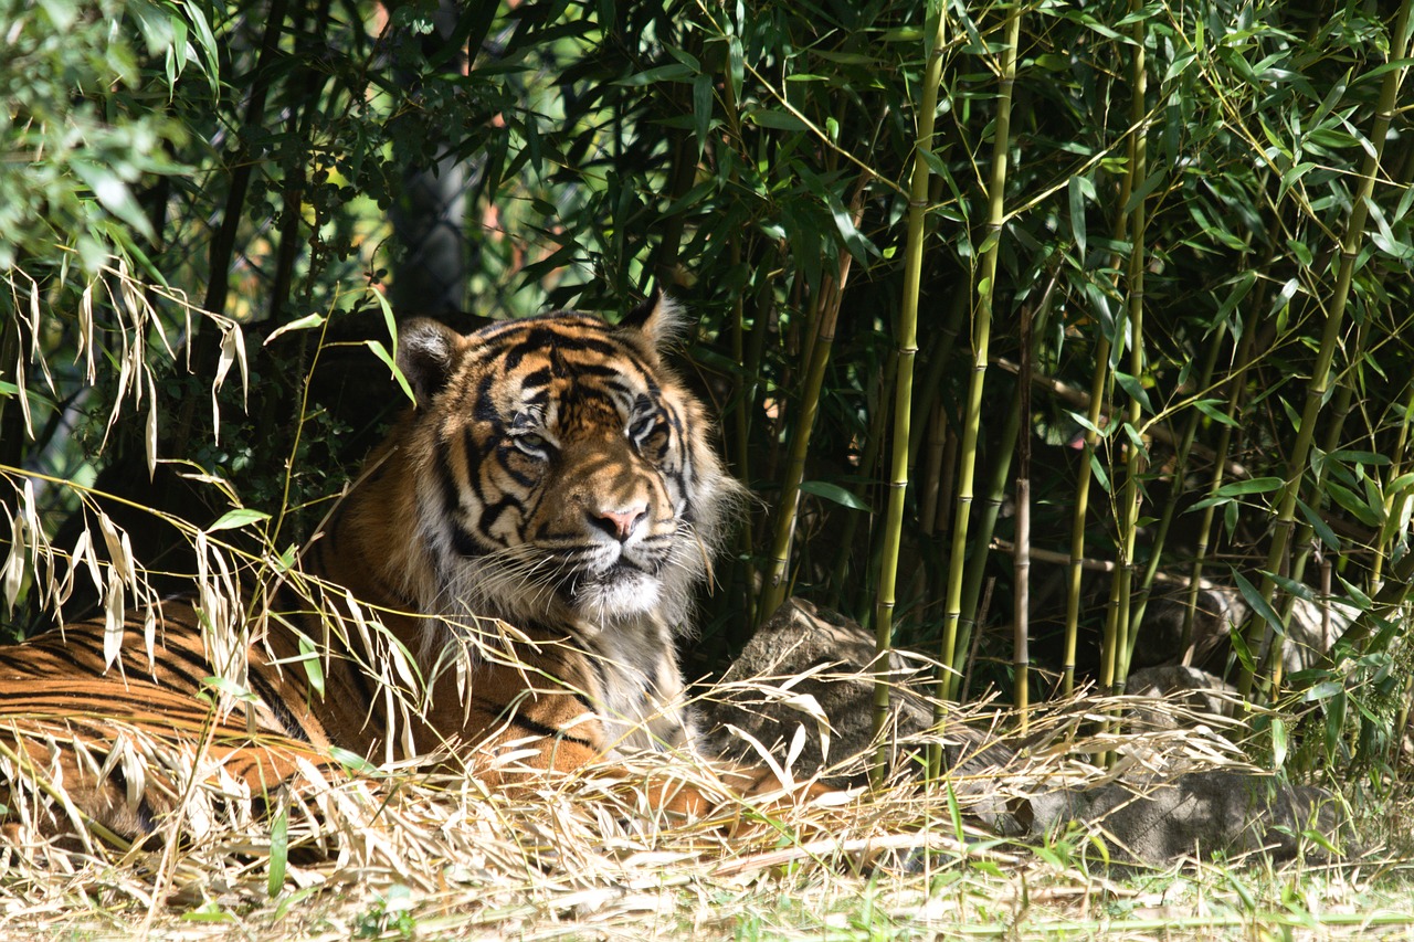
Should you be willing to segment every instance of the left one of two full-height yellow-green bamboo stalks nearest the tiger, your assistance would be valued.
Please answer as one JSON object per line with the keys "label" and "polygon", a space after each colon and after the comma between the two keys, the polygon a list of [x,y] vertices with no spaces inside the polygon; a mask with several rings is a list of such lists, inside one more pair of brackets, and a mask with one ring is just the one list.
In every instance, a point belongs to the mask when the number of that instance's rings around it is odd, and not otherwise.
{"label": "left one of two full-height yellow-green bamboo stalks nearest the tiger", "polygon": [[[874,734],[888,720],[888,651],[894,646],[894,591],[898,578],[898,550],[904,533],[904,496],[908,491],[908,433],[913,405],[913,359],[918,355],[918,294],[923,279],[923,222],[928,214],[928,154],[933,147],[933,123],[937,116],[937,89],[943,79],[943,41],[947,14],[943,4],[936,11],[932,37],[923,45],[928,71],[923,76],[923,99],[918,110],[918,141],[913,146],[913,180],[908,201],[908,231],[904,243],[904,306],[898,318],[896,375],[894,378],[894,453],[889,478],[888,508],[884,513],[884,553],[880,559],[878,595],[874,605],[874,644],[878,652],[874,679]],[[888,752],[880,744],[870,769],[874,784],[884,779]]]}

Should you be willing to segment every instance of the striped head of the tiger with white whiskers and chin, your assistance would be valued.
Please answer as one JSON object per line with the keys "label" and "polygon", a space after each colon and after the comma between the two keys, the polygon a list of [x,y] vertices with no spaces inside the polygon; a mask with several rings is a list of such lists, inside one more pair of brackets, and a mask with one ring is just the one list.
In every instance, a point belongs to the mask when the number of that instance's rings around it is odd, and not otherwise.
{"label": "striped head of the tiger with white whiskers and chin", "polygon": [[389,540],[378,564],[404,571],[385,578],[433,615],[682,629],[738,485],[660,361],[674,315],[656,300],[619,325],[406,324],[397,362],[417,405],[392,446],[413,479],[393,526],[413,545]]}

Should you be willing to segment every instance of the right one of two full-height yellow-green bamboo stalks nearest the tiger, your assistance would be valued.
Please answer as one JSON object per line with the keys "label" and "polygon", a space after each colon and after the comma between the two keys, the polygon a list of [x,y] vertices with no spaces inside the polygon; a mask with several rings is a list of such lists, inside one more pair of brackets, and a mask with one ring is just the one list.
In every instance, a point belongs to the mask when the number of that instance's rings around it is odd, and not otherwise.
{"label": "right one of two full-height yellow-green bamboo stalks nearest the tiger", "polygon": [[[981,257],[981,279],[977,281],[977,304],[973,318],[973,372],[967,380],[967,409],[964,413],[962,454],[957,472],[957,509],[953,513],[952,559],[947,573],[947,604],[943,615],[940,697],[935,719],[943,721],[943,702],[953,699],[959,675],[953,670],[957,659],[957,625],[962,617],[963,569],[967,553],[967,518],[973,501],[973,477],[977,467],[977,431],[981,424],[981,393],[987,376],[987,356],[991,344],[993,294],[997,279],[997,255],[1001,228],[1005,223],[1007,150],[1011,147],[1011,93],[1017,79],[1017,44],[1021,35],[1021,8],[1007,8],[1003,40],[1001,78],[997,95],[995,140],[993,141],[991,175],[987,184],[987,239]],[[937,750],[930,757],[936,775],[942,765]]]}

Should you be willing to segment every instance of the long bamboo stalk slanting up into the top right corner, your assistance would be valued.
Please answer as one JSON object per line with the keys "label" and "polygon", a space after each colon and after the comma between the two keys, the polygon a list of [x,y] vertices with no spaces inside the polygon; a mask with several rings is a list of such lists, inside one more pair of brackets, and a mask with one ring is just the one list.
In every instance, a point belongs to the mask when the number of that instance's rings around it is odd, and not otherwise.
{"label": "long bamboo stalk slanting up into the top right corner", "polygon": [[[1291,448],[1291,458],[1287,465],[1287,482],[1281,488],[1277,525],[1273,530],[1271,547],[1267,553],[1267,574],[1263,576],[1260,590],[1263,601],[1268,605],[1277,590],[1277,583],[1271,577],[1271,573],[1277,571],[1278,564],[1287,554],[1288,540],[1295,523],[1297,498],[1301,492],[1301,481],[1305,477],[1307,461],[1311,455],[1311,444],[1315,440],[1316,417],[1321,414],[1321,407],[1331,389],[1331,365],[1340,345],[1340,332],[1345,328],[1345,308],[1350,297],[1350,283],[1355,277],[1355,262],[1365,236],[1365,222],[1369,215],[1367,205],[1370,197],[1374,194],[1374,180],[1380,173],[1384,143],[1389,137],[1390,122],[1394,117],[1394,109],[1398,103],[1400,82],[1404,79],[1406,66],[1393,64],[1407,55],[1411,1],[1414,0],[1403,0],[1400,3],[1394,30],[1390,33],[1389,62],[1391,68],[1384,74],[1384,79],[1380,83],[1380,99],[1376,105],[1374,124],[1369,137],[1370,151],[1366,153],[1365,163],[1360,167],[1360,185],[1350,204],[1350,216],[1346,221],[1345,236],[1340,239],[1340,267],[1336,273],[1335,291],[1326,308],[1326,322],[1321,334],[1321,347],[1316,351],[1316,362],[1311,371],[1311,382],[1307,386],[1307,402],[1301,410],[1301,427],[1297,431],[1297,441]],[[1258,641],[1258,621],[1254,617],[1247,628],[1249,649],[1254,648],[1253,642]],[[1274,634],[1274,628],[1263,625],[1261,634],[1266,635],[1267,632]],[[1251,668],[1244,666],[1237,682],[1237,690],[1244,699],[1251,694],[1254,680],[1256,665]]]}

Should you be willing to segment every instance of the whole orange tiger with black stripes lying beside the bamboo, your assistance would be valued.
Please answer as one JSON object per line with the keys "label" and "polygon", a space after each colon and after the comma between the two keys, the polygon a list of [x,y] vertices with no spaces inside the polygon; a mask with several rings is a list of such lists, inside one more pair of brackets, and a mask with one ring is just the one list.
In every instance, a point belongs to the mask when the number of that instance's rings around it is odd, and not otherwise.
{"label": "whole orange tiger with black stripes lying beside the bamboo", "polygon": [[[575,311],[469,334],[403,322],[396,364],[413,402],[301,553],[294,576],[322,603],[277,594],[236,652],[239,709],[194,696],[230,665],[215,663],[199,601],[168,600],[151,655],[130,615],[109,670],[102,620],[0,649],[0,757],[62,779],[106,832],[143,839],[182,789],[124,775],[119,721],[195,744],[255,793],[335,750],[444,750],[492,784],[696,755],[677,642],[744,488],[665,364],[680,324],[662,294],[618,324]],[[380,666],[420,676],[417,709],[399,711]],[[769,775],[738,778],[747,793]],[[24,798],[10,789],[6,806]],[[699,813],[713,799],[663,786],[655,801]]]}

